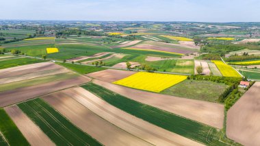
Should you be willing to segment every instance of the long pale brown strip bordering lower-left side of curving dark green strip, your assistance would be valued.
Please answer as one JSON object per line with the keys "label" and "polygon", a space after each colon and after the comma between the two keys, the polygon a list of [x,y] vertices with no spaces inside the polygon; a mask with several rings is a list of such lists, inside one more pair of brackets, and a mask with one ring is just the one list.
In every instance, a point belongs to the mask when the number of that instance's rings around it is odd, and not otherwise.
{"label": "long pale brown strip bordering lower-left side of curving dark green strip", "polygon": [[115,108],[83,88],[72,88],[67,94],[101,118],[152,145],[201,145]]}

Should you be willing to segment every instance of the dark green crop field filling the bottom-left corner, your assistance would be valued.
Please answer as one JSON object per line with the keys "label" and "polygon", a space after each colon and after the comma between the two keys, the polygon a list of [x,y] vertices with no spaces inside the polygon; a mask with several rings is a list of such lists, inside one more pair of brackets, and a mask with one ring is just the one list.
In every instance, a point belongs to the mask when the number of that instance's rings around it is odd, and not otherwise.
{"label": "dark green crop field filling the bottom-left corner", "polygon": [[29,145],[18,127],[3,109],[0,109],[0,132],[8,141],[8,144],[3,143],[3,145]]}

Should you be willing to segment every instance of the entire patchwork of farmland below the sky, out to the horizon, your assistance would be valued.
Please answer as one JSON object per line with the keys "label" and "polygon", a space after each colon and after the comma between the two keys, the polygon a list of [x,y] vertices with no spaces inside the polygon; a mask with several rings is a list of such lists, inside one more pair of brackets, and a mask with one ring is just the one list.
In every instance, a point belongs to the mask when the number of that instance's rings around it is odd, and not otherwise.
{"label": "entire patchwork of farmland below the sky, out to the horizon", "polygon": [[0,145],[257,145],[259,26],[0,20]]}

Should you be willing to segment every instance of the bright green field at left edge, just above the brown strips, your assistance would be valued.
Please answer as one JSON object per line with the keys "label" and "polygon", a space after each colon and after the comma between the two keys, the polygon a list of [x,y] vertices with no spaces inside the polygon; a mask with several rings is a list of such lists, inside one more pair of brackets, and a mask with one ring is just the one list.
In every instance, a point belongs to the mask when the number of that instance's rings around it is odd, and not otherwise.
{"label": "bright green field at left edge, just above the brown strips", "polygon": [[0,69],[6,69],[10,67],[21,66],[26,64],[34,64],[40,62],[45,62],[45,61],[34,59],[34,58],[18,58],[14,60],[5,60],[5,61],[1,61]]}

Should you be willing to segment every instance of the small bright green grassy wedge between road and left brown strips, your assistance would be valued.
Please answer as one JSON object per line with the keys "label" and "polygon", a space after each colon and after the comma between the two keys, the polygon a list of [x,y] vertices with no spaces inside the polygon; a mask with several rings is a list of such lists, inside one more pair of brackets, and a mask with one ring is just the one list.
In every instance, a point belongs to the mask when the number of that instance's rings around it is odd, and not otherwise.
{"label": "small bright green grassy wedge between road and left brown strips", "polygon": [[86,65],[81,65],[81,64],[60,63],[60,62],[56,62],[56,63],[66,67],[68,69],[71,69],[73,71],[76,71],[77,73],[80,73],[80,74],[87,74],[87,73],[93,73],[96,71],[105,70],[105,68],[103,68],[103,67],[86,66]]}

